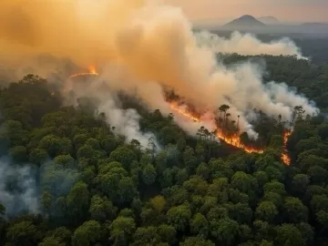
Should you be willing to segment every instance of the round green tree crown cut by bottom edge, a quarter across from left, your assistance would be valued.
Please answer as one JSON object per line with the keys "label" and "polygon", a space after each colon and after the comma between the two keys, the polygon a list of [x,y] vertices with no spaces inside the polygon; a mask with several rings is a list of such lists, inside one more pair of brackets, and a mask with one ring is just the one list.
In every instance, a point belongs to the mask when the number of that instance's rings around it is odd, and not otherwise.
{"label": "round green tree crown cut by bottom edge, a quarter across from left", "polygon": [[87,220],[74,231],[73,246],[91,246],[101,238],[101,225],[96,220]]}

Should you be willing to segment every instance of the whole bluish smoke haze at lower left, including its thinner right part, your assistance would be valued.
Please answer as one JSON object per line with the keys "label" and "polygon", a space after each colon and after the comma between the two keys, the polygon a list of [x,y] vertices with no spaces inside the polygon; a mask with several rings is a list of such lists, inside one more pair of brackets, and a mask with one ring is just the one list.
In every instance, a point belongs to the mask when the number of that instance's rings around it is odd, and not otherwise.
{"label": "whole bluish smoke haze at lower left, including its thinner right part", "polygon": [[59,196],[67,196],[77,177],[76,169],[61,167],[54,161],[46,161],[40,169],[36,169],[32,164],[18,165],[7,157],[1,157],[0,204],[5,206],[5,215],[9,217],[24,212],[42,213],[41,192],[50,192],[55,200]]}

